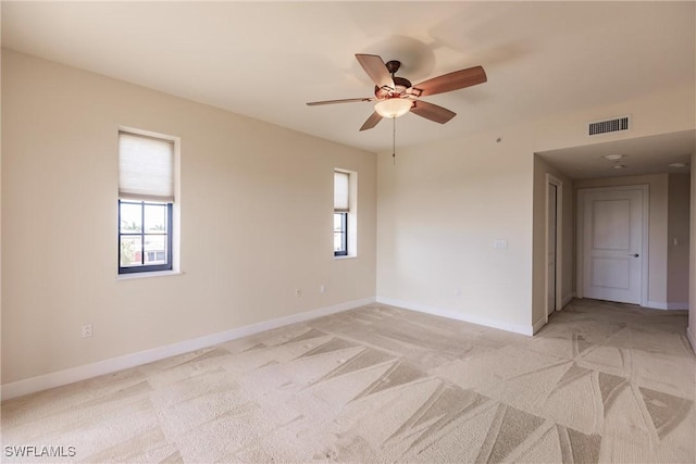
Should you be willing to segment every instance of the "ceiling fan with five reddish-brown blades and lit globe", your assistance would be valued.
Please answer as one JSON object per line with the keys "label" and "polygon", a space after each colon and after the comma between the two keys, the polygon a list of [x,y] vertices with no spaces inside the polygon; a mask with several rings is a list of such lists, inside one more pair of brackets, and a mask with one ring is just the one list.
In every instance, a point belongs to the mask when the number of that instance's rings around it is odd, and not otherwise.
{"label": "ceiling fan with five reddish-brown blades and lit globe", "polygon": [[376,54],[357,53],[356,58],[375,84],[374,97],[312,101],[307,104],[309,106],[315,106],[320,104],[376,101],[374,113],[368,117],[368,121],[360,127],[360,130],[373,128],[383,117],[399,117],[409,111],[426,120],[445,124],[455,117],[457,113],[438,106],[437,104],[423,101],[420,98],[463,89],[483,84],[487,80],[486,72],[483,67],[474,66],[433,77],[432,79],[413,86],[409,79],[395,76],[399,67],[401,67],[399,61],[393,60],[385,64],[382,58]]}

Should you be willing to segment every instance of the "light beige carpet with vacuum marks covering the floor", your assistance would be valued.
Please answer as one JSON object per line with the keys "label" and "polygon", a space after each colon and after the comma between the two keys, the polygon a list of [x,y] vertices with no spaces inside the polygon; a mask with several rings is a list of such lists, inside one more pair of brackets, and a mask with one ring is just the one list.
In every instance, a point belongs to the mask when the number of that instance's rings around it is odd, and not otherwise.
{"label": "light beige carpet with vacuum marks covering the floor", "polygon": [[373,304],[8,401],[2,461],[694,463],[686,317],[575,300],[529,338]]}

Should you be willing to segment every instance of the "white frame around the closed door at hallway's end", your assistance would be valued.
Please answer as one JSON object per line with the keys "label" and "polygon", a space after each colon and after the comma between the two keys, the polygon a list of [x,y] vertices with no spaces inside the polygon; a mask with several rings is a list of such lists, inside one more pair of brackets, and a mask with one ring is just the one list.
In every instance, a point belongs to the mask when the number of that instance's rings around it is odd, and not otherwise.
{"label": "white frame around the closed door at hallway's end", "polygon": [[577,189],[577,204],[575,208],[575,293],[577,298],[584,298],[585,281],[584,281],[584,265],[585,265],[585,195],[588,192],[601,192],[601,191],[619,191],[619,190],[641,190],[643,192],[643,243],[641,244],[641,254],[643,256],[641,265],[641,306],[647,308],[648,305],[648,263],[649,256],[649,241],[648,235],[650,225],[650,186],[648,184],[635,184],[635,185],[622,185],[622,186],[608,186],[608,187],[589,187]]}

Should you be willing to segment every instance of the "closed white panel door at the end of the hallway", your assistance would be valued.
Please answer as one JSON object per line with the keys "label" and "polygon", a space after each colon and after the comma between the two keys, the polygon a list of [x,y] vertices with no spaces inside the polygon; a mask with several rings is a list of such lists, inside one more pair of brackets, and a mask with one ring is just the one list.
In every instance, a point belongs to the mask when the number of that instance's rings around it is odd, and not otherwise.
{"label": "closed white panel door at the end of the hallway", "polygon": [[588,190],[583,200],[584,296],[641,303],[643,189]]}

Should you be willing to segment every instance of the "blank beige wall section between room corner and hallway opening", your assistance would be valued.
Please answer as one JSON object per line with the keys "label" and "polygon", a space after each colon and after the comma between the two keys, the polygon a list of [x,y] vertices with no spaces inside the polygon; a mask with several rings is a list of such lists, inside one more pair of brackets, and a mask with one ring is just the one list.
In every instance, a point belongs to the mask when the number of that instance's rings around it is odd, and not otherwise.
{"label": "blank beige wall section between room corner and hallway opening", "polygon": [[380,299],[530,327],[532,160],[524,126],[381,154]]}

